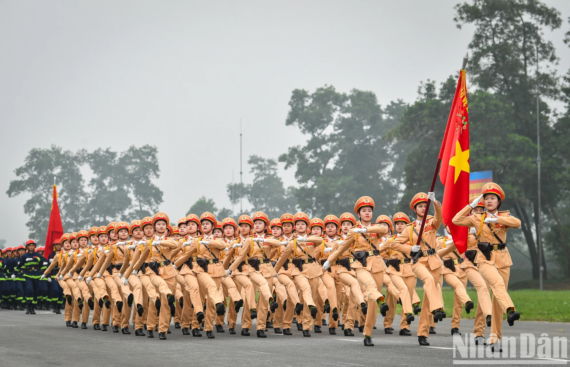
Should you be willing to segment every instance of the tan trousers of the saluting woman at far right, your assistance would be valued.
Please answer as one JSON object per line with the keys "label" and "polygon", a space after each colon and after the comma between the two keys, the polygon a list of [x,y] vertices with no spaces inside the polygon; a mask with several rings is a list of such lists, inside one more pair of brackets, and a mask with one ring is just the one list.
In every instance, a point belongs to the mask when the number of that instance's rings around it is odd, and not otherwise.
{"label": "tan trousers of the saluting woman at far right", "polygon": [[511,274],[511,268],[496,268],[494,265],[487,263],[477,264],[477,268],[484,280],[491,286],[493,297],[491,301],[491,335],[489,342],[494,343],[500,340],[503,323],[503,313],[508,308],[515,309],[511,297],[507,293],[508,278]]}

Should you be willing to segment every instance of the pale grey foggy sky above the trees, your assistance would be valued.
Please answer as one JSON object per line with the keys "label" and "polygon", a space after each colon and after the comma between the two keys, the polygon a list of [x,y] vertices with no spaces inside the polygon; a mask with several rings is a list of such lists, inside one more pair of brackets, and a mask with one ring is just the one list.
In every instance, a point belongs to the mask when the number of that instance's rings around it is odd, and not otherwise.
{"label": "pale grey foggy sky above the trees", "polygon": [[[117,152],[156,145],[159,209],[172,221],[202,195],[231,208],[226,185],[232,169],[239,181],[240,117],[249,183],[247,157],[277,158],[306,140],[284,124],[295,88],[332,84],[373,91],[382,106],[413,102],[420,81],[457,74],[468,51],[473,27],[455,27],[455,3],[1,1],[0,221],[9,226],[0,238],[7,246],[27,239],[28,197],[5,192],[28,150],[51,144]],[[564,20],[546,36],[565,74],[570,2],[547,3]],[[189,156],[197,157],[192,171]],[[191,179],[211,176],[213,164],[218,178]],[[295,184],[294,169],[280,173]]]}

